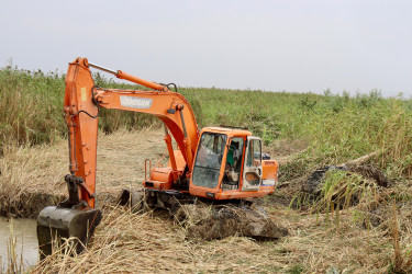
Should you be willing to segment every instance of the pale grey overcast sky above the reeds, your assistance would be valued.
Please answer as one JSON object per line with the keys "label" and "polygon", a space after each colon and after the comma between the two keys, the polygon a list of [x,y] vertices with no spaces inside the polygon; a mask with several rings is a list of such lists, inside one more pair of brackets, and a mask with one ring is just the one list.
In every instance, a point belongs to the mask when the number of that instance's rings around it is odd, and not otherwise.
{"label": "pale grey overcast sky above the reeds", "polygon": [[0,66],[77,56],[181,87],[412,96],[412,1],[1,1]]}

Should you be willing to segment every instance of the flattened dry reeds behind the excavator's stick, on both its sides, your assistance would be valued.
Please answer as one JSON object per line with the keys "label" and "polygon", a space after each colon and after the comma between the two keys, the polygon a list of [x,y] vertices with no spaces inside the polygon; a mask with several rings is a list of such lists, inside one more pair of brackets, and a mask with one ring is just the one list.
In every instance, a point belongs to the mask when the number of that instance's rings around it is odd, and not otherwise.
{"label": "flattened dry reeds behind the excavator's stick, on both its sides", "polygon": [[[141,186],[145,159],[155,163],[164,151],[162,132],[100,134],[97,206],[114,202],[123,187]],[[36,217],[43,207],[67,197],[67,140],[33,148],[9,147],[0,159],[0,215]]]}

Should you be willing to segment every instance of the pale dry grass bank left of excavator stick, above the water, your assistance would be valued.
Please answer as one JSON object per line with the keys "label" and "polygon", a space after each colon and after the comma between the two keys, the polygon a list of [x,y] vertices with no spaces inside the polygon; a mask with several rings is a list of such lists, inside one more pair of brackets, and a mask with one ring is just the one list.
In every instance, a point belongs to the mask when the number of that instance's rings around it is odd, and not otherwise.
{"label": "pale dry grass bank left of excavator stick, above the water", "polygon": [[24,148],[10,146],[0,159],[0,213],[31,217],[45,203],[54,203],[65,191],[64,164],[55,156],[58,146]]}

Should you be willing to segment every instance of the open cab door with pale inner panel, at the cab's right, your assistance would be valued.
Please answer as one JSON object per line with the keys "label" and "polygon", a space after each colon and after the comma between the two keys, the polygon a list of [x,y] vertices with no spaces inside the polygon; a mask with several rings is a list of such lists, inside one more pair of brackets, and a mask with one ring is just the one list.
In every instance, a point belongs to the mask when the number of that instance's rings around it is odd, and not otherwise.
{"label": "open cab door with pale inner panel, at the cab's right", "polygon": [[261,184],[261,140],[247,136],[242,191],[258,191]]}

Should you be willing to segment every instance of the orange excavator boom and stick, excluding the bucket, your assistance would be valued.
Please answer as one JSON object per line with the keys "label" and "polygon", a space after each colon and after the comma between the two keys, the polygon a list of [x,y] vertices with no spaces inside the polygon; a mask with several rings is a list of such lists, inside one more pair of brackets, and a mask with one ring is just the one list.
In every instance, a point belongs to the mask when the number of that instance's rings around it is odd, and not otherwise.
{"label": "orange excavator boom and stick, excluding the bucket", "polygon": [[[137,84],[154,89],[118,90],[96,87],[90,67],[102,69]],[[111,71],[77,58],[66,77],[65,116],[69,129],[70,173],[78,182],[80,199],[94,207],[96,160],[99,107],[153,114],[162,119],[174,136],[191,170],[199,140],[199,129],[189,102],[167,87],[149,82],[123,71]],[[170,152],[170,150],[169,150]],[[174,161],[174,159],[171,159]],[[176,167],[176,164],[172,163]],[[78,181],[81,181],[78,179]],[[66,180],[68,181],[68,180]]]}

